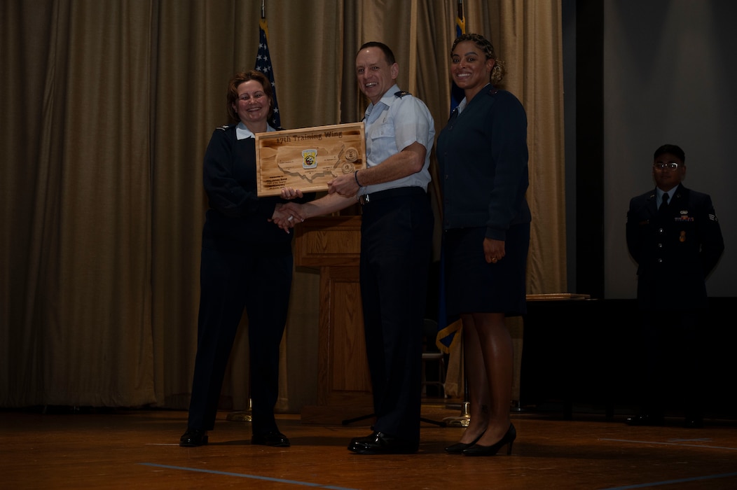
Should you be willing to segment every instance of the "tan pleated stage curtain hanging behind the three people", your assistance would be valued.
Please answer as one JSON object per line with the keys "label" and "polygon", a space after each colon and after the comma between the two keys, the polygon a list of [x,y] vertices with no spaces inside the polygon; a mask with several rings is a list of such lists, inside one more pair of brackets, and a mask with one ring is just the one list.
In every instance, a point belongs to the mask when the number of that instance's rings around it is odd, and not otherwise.
{"label": "tan pleated stage curtain hanging behind the three people", "polygon": [[[559,2],[464,2],[528,113],[530,292],[565,291]],[[444,126],[456,0],[266,1],[282,125],[354,122],[360,43]],[[0,2],[0,407],[184,408],[197,337],[202,157],[254,66],[261,0]],[[439,235],[437,235],[439,236]],[[317,274],[297,270],[279,409],[315,402]],[[223,407],[248,402],[247,321]]]}

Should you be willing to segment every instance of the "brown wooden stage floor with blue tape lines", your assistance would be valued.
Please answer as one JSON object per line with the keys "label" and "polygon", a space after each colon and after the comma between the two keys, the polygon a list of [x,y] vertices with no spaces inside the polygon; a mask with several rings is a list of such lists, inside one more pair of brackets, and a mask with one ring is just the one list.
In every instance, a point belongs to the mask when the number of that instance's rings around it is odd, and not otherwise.
{"label": "brown wooden stage floor with blue tape lines", "polygon": [[[426,404],[433,420],[457,406]],[[279,415],[290,448],[251,446],[248,422],[221,412],[210,444],[178,446],[186,412],[0,411],[0,489],[737,489],[737,424],[628,427],[624,416],[514,413],[511,456],[447,455],[462,427],[422,423],[416,455],[355,455],[370,421],[301,424]]]}

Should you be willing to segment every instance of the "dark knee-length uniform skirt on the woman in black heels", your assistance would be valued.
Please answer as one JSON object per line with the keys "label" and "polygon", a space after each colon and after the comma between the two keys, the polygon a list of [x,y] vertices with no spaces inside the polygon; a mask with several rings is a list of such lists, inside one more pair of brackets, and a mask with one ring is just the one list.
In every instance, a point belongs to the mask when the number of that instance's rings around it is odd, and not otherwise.
{"label": "dark knee-length uniform skirt on the woman in black heels", "polygon": [[447,312],[524,315],[530,224],[509,228],[505,256],[496,264],[487,263],[483,255],[485,234],[486,227],[454,228],[444,233]]}

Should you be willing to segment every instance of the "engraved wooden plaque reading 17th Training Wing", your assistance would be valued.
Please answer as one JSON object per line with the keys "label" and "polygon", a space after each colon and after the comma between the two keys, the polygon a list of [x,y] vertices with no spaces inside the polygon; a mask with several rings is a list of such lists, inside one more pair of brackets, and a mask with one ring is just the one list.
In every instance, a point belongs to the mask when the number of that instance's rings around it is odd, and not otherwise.
{"label": "engraved wooden plaque reading 17th Training Wing", "polygon": [[279,195],[282,187],[326,191],[332,179],[363,168],[363,122],[256,133],[259,196]]}

